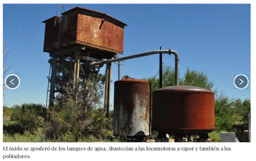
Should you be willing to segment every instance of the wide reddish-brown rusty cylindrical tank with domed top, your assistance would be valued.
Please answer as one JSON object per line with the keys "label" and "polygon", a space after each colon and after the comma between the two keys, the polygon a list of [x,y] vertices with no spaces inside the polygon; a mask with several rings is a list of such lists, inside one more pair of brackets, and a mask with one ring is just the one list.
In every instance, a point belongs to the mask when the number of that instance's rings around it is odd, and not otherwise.
{"label": "wide reddish-brown rusty cylindrical tank with domed top", "polygon": [[195,86],[170,86],[153,92],[152,128],[175,135],[212,132],[214,93]]}

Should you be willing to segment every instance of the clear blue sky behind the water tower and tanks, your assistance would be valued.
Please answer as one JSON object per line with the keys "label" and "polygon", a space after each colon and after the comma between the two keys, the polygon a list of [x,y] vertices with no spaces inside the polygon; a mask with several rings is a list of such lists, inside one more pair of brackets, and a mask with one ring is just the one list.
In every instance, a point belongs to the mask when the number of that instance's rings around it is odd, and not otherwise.
{"label": "clear blue sky behind the water tower and tanks", "polygon": [[[3,44],[8,43],[7,49],[12,51],[12,68],[6,76],[17,73],[20,78],[19,88],[4,89],[4,105],[45,105],[49,54],[43,52],[42,21],[54,17],[59,5],[3,4]],[[180,56],[181,77],[189,67],[207,73],[214,89],[230,98],[251,98],[250,4],[70,4],[71,8],[76,6],[107,13],[128,25],[123,56],[158,50],[160,46],[173,49]],[[65,10],[69,10],[67,5]],[[174,56],[164,55],[163,63],[174,66]],[[151,77],[159,69],[159,56],[130,59],[124,64],[121,76]],[[248,75],[247,89],[234,88],[237,74]],[[112,80],[118,80],[115,64]]]}

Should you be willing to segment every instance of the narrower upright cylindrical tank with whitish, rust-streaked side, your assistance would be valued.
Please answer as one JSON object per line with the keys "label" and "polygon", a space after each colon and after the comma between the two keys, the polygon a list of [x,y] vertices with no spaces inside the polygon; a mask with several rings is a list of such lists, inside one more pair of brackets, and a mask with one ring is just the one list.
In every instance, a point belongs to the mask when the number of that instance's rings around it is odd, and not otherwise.
{"label": "narrower upright cylindrical tank with whitish, rust-streaked side", "polygon": [[150,135],[150,82],[125,77],[115,82],[113,134]]}

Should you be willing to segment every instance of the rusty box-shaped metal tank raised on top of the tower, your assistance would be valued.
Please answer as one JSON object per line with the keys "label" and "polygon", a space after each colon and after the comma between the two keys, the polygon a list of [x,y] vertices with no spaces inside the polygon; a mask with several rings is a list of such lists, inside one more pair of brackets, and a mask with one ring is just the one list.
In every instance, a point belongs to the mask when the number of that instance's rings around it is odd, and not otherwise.
{"label": "rusty box-shaped metal tank raised on top of the tower", "polygon": [[[58,27],[53,27],[53,21]],[[123,53],[124,26],[127,24],[106,13],[76,7],[44,23],[45,52],[84,45],[88,49]],[[52,38],[52,33],[58,34]]]}

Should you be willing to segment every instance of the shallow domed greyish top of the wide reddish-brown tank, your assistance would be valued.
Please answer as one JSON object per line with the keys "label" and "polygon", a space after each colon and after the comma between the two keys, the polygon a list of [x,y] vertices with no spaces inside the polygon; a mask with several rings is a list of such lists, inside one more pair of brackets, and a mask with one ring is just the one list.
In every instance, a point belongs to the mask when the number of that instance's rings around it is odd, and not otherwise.
{"label": "shallow domed greyish top of the wide reddish-brown tank", "polygon": [[[210,93],[214,94],[211,90],[200,88],[196,86],[169,86],[166,88],[157,89],[156,91],[173,91],[173,92],[192,92],[192,93]],[[155,91],[154,91],[155,92]]]}

